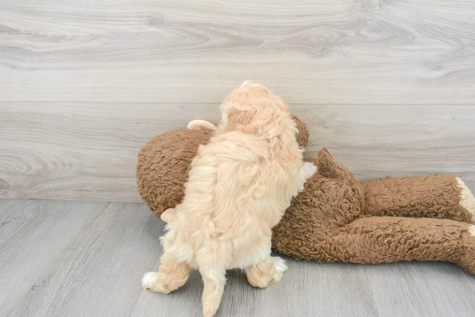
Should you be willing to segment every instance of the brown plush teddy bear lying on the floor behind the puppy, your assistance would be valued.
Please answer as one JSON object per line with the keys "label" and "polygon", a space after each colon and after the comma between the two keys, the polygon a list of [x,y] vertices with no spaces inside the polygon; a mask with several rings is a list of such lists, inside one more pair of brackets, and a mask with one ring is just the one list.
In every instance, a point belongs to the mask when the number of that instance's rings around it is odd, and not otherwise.
{"label": "brown plush teddy bear lying on the floor behind the puppy", "polygon": [[[297,140],[306,147],[306,124],[294,119]],[[163,220],[173,218],[191,160],[213,129],[209,122],[192,121],[189,129],[156,136],[140,151],[139,193]],[[276,251],[320,262],[443,260],[475,273],[475,197],[459,178],[439,174],[360,183],[326,148],[307,161],[318,171],[273,228]]]}

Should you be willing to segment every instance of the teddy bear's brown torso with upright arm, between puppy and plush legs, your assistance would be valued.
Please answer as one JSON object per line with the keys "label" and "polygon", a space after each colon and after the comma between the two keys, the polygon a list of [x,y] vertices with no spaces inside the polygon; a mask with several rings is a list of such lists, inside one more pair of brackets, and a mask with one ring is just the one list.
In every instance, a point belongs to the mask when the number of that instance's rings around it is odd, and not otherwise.
{"label": "teddy bear's brown torso with upright arm, between puppy and plush legs", "polygon": [[297,259],[323,260],[319,246],[328,242],[322,233],[356,219],[364,211],[364,193],[356,176],[327,148],[307,161],[318,170],[272,228],[272,247]]}

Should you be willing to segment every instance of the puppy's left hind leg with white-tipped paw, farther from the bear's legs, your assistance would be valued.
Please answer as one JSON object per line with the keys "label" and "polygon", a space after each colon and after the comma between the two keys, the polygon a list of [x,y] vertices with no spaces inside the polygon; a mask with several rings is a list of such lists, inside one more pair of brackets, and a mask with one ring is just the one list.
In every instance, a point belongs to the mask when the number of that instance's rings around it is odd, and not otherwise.
{"label": "puppy's left hind leg with white-tipped paw, farther from the bear's legs", "polygon": [[160,262],[158,272],[148,272],[143,276],[144,289],[168,294],[186,283],[190,273],[190,266],[187,263],[176,261],[170,252],[165,252]]}

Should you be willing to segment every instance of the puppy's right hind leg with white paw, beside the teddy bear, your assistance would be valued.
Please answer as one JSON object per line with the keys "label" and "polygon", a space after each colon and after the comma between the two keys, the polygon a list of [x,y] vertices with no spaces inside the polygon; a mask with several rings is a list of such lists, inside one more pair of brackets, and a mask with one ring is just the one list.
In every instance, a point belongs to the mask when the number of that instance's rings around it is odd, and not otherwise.
{"label": "puppy's right hind leg with white paw, beside the teddy bear", "polygon": [[266,288],[270,281],[278,282],[287,271],[285,260],[280,257],[268,257],[264,261],[246,269],[246,275],[252,286]]}

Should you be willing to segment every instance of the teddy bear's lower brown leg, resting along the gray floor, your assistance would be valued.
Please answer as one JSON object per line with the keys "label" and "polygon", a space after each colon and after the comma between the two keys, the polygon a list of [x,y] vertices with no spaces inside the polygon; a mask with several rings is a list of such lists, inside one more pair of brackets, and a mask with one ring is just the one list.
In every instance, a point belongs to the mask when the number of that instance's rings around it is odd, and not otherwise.
{"label": "teddy bear's lower brown leg, resting along the gray floor", "polygon": [[333,231],[323,261],[442,260],[475,273],[475,226],[452,220],[362,217]]}

